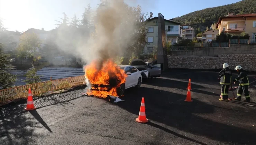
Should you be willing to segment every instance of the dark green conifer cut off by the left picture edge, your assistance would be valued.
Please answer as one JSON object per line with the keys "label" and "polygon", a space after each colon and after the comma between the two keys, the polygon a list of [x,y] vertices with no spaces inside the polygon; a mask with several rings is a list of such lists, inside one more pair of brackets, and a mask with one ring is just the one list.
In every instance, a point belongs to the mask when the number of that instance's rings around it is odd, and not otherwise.
{"label": "dark green conifer cut off by the left picture edge", "polygon": [[3,46],[0,43],[0,88],[6,89],[8,87],[11,87],[14,82],[16,81],[16,77],[10,73],[8,73],[6,70],[10,68],[8,57],[10,55],[3,53]]}

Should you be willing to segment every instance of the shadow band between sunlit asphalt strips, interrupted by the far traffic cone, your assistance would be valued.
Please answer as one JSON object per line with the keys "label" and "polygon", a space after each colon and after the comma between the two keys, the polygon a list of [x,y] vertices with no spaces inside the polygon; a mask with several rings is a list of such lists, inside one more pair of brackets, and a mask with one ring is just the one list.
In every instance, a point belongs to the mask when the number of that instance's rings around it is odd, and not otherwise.
{"label": "shadow band between sunlit asphalt strips, interrupted by the far traffic cone", "polygon": [[[159,83],[161,82],[161,83]],[[143,84],[151,85],[151,86],[157,86],[157,87],[168,87],[168,88],[176,88],[176,89],[185,89],[188,86],[188,83],[177,81],[177,80],[171,80],[171,79],[164,79],[164,78],[153,78],[146,82],[143,82]],[[205,95],[213,95],[213,96],[219,96],[220,94],[211,93],[209,91],[199,90],[204,89],[205,87],[201,85],[191,84],[191,88],[193,92],[195,93],[201,93]]]}

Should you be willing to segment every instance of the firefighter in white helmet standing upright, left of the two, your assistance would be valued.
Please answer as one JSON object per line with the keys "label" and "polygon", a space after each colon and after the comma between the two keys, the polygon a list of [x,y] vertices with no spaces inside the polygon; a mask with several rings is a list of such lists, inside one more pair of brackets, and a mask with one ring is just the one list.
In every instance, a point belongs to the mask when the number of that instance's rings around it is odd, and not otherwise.
{"label": "firefighter in white helmet standing upright, left of the two", "polygon": [[223,64],[223,69],[219,72],[220,85],[221,85],[221,95],[220,101],[228,99],[228,88],[231,85],[232,73],[228,68],[229,65],[227,63]]}

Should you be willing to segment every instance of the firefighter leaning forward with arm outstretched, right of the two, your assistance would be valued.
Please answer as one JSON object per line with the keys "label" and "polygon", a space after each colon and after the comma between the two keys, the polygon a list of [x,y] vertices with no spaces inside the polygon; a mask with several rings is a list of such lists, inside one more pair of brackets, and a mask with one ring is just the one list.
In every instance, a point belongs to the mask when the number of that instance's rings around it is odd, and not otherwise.
{"label": "firefighter leaning forward with arm outstretched, right of the two", "polygon": [[241,100],[242,94],[244,92],[245,95],[245,100],[247,102],[250,102],[250,94],[248,91],[249,88],[249,79],[247,74],[245,73],[244,69],[241,66],[236,66],[236,71],[238,72],[238,76],[237,78],[235,78],[234,84],[236,84],[236,82],[239,82],[239,86],[237,89],[237,97],[235,98],[235,100]]}

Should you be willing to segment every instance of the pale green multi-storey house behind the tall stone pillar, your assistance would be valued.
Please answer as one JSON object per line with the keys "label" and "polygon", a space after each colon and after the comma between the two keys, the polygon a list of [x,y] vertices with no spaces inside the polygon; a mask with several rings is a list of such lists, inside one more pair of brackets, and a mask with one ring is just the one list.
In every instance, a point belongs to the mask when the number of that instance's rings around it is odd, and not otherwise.
{"label": "pale green multi-storey house behind the tall stone pillar", "polygon": [[[165,34],[166,42],[171,41],[172,44],[176,43],[178,38],[181,36],[180,23],[173,22],[165,19]],[[153,47],[157,46],[158,37],[158,17],[154,17],[146,20],[145,27],[148,29],[147,42],[148,45],[144,47],[144,53],[151,53]]]}

